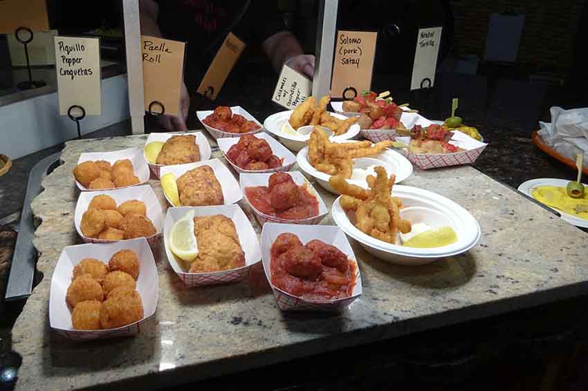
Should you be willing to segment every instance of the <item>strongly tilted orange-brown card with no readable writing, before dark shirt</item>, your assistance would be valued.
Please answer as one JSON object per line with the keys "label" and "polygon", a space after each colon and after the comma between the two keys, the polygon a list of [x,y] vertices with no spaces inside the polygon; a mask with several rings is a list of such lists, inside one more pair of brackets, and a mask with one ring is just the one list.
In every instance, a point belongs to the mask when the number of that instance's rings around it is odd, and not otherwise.
{"label": "strongly tilted orange-brown card with no readable writing, before dark shirt", "polygon": [[229,32],[198,87],[199,94],[210,100],[217,99],[217,95],[223,88],[230,71],[237,64],[237,59],[243,53],[245,46],[241,39]]}

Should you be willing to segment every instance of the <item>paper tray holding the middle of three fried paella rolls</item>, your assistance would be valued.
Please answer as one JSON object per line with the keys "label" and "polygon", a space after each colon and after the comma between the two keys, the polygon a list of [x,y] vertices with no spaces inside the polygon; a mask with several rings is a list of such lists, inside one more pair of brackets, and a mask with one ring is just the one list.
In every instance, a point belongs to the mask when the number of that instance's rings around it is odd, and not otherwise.
{"label": "paper tray holding the middle of three fried paella rolls", "polygon": [[[228,167],[225,166],[223,162],[216,158],[205,160],[204,162],[165,166],[161,169],[161,175],[163,176],[167,173],[172,173],[176,177],[176,180],[178,180],[181,175],[199,166],[210,166],[212,171],[214,171],[214,176],[217,177],[217,180],[219,180],[219,183],[221,184],[223,198],[225,199],[226,205],[235,204],[239,202],[241,198],[243,198],[243,193],[241,193],[241,188],[239,187],[239,183],[237,183],[235,176],[232,175]],[[167,203],[173,207],[174,204],[172,204],[172,201],[169,200],[165,191],[163,193]]]}

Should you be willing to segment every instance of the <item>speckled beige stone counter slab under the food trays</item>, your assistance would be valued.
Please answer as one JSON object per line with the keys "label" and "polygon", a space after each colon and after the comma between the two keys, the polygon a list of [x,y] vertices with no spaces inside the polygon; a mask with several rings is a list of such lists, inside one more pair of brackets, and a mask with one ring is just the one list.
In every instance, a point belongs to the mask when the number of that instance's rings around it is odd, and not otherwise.
{"label": "speckled beige stone counter slab under the food trays", "polygon": [[[341,314],[285,314],[261,265],[243,283],[187,289],[160,241],[154,249],[158,308],[141,334],[72,343],[51,332],[48,320],[55,263],[64,247],[82,242],[73,226],[78,191],[71,170],[83,151],[142,146],[146,137],[68,142],[64,164],[45,178],[45,191],[33,202],[42,220],[34,244],[44,278],[12,332],[12,349],[23,359],[18,390],[186,383],[588,292],[586,233],[470,166],[415,169],[403,184],[451,198],[479,221],[481,241],[467,254],[401,267],[350,240],[362,273],[360,299]],[[159,182],[150,184],[165,207]],[[330,205],[333,196],[317,189]],[[250,209],[243,202],[241,207],[259,232]],[[322,224],[333,222],[327,216]]]}

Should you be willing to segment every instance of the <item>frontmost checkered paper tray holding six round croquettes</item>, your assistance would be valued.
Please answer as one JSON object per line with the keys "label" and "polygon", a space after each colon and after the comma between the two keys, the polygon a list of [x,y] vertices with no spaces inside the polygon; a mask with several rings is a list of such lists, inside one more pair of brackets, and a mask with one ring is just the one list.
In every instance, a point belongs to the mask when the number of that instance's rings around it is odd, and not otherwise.
{"label": "frontmost checkered paper tray holding six round croquettes", "polygon": [[[73,309],[66,303],[66,293],[71,278],[73,267],[84,258],[95,258],[108,263],[116,251],[128,249],[137,254],[139,258],[139,276],[137,279],[137,291],[143,301],[143,318],[130,325],[116,327],[107,330],[75,330],[71,323]],[[138,334],[143,324],[155,314],[158,299],[157,267],[149,244],[144,238],[114,242],[109,245],[75,245],[64,248],[55,271],[51,277],[49,296],[49,323],[55,332],[74,341],[89,341],[98,338],[114,338],[118,336],[130,336]]]}

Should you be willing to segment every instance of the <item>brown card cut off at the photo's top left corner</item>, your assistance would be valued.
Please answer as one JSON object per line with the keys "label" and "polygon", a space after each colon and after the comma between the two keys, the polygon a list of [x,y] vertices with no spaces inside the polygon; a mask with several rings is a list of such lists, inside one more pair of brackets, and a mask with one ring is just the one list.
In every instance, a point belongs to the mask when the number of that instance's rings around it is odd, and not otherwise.
{"label": "brown card cut off at the photo's top left corner", "polygon": [[46,0],[0,0],[0,34],[10,34],[19,27],[49,30]]}

